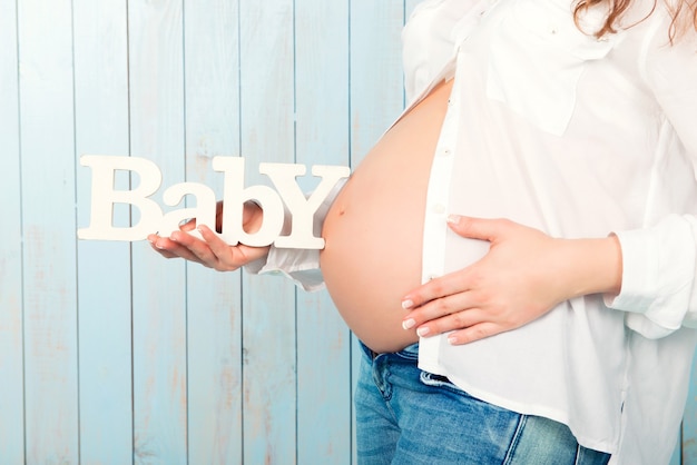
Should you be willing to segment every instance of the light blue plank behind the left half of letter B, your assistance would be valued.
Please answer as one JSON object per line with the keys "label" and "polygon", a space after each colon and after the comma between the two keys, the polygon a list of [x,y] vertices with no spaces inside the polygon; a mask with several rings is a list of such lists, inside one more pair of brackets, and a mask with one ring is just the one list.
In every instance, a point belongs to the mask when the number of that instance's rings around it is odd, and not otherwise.
{"label": "light blue plank behind the left half of letter B", "polygon": [[[73,2],[76,154],[128,155],[128,38],[119,0]],[[78,162],[79,166],[79,161]],[[89,225],[91,172],[77,172],[78,225]],[[127,177],[117,179],[128,189]],[[116,208],[116,224],[128,210]],[[80,461],[132,461],[130,245],[78,243]]]}

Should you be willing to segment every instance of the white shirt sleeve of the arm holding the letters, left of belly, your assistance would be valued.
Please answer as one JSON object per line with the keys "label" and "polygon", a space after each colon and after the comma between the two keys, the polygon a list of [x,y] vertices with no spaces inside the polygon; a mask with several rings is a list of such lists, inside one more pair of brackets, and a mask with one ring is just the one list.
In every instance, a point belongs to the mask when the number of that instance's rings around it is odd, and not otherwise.
{"label": "white shirt sleeve of the arm holding the letters, left of belly", "polygon": [[[315,212],[313,233],[316,237],[322,234],[322,226],[334,199],[346,184],[346,179],[341,179],[326,196],[317,211]],[[286,211],[282,234],[288,234],[291,218]],[[296,286],[307,291],[324,288],[324,278],[320,269],[320,250],[316,249],[291,249],[278,248],[272,245],[266,259],[259,259],[245,266],[245,270],[252,275],[278,275],[285,276],[295,283]]]}

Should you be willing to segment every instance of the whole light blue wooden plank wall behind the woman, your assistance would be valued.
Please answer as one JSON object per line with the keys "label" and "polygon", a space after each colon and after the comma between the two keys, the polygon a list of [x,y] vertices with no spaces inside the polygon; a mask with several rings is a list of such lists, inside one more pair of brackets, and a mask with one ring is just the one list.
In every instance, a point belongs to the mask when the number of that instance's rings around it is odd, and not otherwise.
{"label": "whole light blue wooden plank wall behind the woman", "polygon": [[[326,294],[78,241],[78,159],[218,195],[219,155],[248,185],[259,161],[355,165],[404,105],[415,3],[0,0],[1,464],[355,462],[357,352]],[[675,464],[697,464],[696,397]]]}

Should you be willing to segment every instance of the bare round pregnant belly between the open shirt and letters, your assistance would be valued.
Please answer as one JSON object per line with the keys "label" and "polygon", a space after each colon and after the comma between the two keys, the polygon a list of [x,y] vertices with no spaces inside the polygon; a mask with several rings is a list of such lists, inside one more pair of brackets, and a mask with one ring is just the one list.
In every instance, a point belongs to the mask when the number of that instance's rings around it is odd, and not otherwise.
{"label": "bare round pregnant belly between the open shirt and letters", "polygon": [[452,81],[433,90],[373,147],[330,209],[320,259],[354,334],[377,353],[419,338],[402,297],[421,283],[426,188]]}

